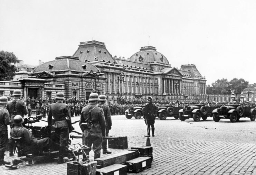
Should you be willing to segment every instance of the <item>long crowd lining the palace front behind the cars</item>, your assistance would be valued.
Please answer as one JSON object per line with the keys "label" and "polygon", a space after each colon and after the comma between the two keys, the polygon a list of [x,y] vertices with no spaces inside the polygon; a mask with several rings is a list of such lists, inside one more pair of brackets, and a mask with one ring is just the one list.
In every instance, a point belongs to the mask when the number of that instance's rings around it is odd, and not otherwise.
{"label": "long crowd lining the palace front behind the cars", "polygon": [[[42,114],[43,117],[46,117],[46,113],[48,113],[49,108],[50,108],[50,104],[51,103],[55,103],[56,100],[55,99],[46,99],[45,97],[43,98],[30,98],[29,96],[27,97],[26,100],[26,105],[27,105],[27,109],[29,111],[28,116],[30,116],[30,112],[31,110],[36,110],[36,115]],[[69,98],[69,99],[65,99],[63,100],[64,103],[68,104],[69,108],[70,108],[70,113],[71,113],[71,117],[74,116],[80,116],[81,110],[83,107],[85,107],[86,105],[88,105],[88,100],[84,99],[84,98],[80,98],[78,100],[75,100],[74,98]],[[116,104],[112,104],[110,101],[108,102],[108,106],[110,107],[110,111],[111,111],[111,115],[124,115],[125,114],[125,110],[126,109],[131,109],[132,107],[136,107],[136,106],[145,106],[147,103],[146,98],[143,99],[129,99],[126,100],[125,98],[120,98],[119,103]],[[179,101],[179,100],[159,100],[156,99],[154,100],[154,103],[156,106],[173,106],[173,107],[187,107],[190,105],[207,105],[207,106],[220,106],[220,105],[231,105],[231,104],[240,104],[243,106],[249,106],[249,107],[253,107],[255,106],[255,103],[253,102],[246,102],[244,101],[242,102],[202,102],[199,100],[195,100],[195,101]]]}

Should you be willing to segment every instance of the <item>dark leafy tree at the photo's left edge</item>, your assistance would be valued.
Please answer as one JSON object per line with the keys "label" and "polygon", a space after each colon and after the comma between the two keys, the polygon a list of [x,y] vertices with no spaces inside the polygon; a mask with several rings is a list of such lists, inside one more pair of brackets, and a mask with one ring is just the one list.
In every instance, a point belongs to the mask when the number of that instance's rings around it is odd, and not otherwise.
{"label": "dark leafy tree at the photo's left edge", "polygon": [[12,52],[0,52],[0,80],[8,81],[12,80],[15,76],[16,67],[15,64],[18,63],[19,60]]}

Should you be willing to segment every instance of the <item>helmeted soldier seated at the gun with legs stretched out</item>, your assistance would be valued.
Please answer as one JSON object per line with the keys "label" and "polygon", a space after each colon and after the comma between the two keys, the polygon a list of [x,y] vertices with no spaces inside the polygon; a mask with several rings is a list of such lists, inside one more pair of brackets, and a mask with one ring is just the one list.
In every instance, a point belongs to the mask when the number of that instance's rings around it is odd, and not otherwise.
{"label": "helmeted soldier seated at the gun with legs stretched out", "polygon": [[21,139],[20,146],[23,153],[18,153],[18,156],[22,156],[20,154],[24,153],[38,153],[41,151],[48,151],[49,149],[58,149],[58,144],[54,143],[50,138],[36,139],[32,135],[32,132],[27,128],[22,126],[24,122],[23,118],[20,115],[17,115],[13,118],[14,127],[11,129],[10,136],[11,138]]}

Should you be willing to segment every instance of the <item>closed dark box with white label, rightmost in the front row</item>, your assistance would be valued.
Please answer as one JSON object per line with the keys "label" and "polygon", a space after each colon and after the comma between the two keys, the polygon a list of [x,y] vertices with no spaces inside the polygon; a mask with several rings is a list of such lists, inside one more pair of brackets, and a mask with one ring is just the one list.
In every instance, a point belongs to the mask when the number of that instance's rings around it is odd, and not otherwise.
{"label": "closed dark box with white label, rightmost in the front row", "polygon": [[144,169],[151,167],[152,159],[150,157],[138,157],[133,160],[126,161],[124,165],[127,166],[127,172],[139,173]]}

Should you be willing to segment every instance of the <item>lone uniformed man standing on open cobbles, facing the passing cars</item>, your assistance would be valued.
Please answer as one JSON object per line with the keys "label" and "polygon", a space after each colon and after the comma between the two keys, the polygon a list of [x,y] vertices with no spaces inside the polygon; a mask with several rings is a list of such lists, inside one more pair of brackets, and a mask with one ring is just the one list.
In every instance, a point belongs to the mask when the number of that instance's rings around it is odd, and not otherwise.
{"label": "lone uniformed man standing on open cobbles, facing the passing cars", "polygon": [[155,136],[155,104],[152,103],[153,97],[148,97],[148,103],[145,106],[145,111],[143,114],[143,119],[147,125],[147,135],[144,135],[145,137],[150,137],[150,127],[152,129],[152,136]]}

